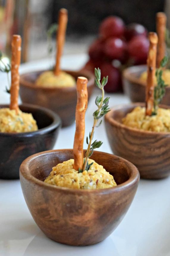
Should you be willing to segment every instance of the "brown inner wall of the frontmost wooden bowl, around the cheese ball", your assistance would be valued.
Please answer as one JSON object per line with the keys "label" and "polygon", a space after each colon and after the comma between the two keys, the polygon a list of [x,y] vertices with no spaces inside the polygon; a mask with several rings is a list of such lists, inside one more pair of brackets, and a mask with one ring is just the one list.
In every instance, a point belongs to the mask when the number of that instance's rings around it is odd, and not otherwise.
{"label": "brown inner wall of the frontmost wooden bowl, around the cheese ball", "polygon": [[[34,157],[29,161],[28,170],[33,177],[44,181],[52,171],[52,167],[69,159],[73,159],[72,150],[51,151],[39,154],[39,156]],[[117,156],[94,152],[92,159],[98,164],[103,165],[103,167],[114,176],[117,184],[126,182],[132,176],[131,163],[128,163]]]}

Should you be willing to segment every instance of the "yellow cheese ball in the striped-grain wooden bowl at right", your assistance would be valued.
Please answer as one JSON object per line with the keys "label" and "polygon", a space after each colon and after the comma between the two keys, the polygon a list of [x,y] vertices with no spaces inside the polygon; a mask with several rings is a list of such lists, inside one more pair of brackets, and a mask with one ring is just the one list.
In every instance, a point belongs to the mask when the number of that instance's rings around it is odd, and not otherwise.
{"label": "yellow cheese ball in the striped-grain wooden bowl at right", "polygon": [[158,108],[157,115],[145,115],[144,107],[136,107],[122,119],[128,127],[151,132],[170,132],[170,109]]}

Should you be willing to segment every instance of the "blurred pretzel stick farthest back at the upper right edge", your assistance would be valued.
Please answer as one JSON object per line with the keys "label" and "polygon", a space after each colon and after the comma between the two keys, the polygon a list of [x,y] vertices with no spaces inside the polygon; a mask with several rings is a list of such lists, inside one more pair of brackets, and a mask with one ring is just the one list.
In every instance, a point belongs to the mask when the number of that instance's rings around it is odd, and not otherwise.
{"label": "blurred pretzel stick farthest back at the upper right edge", "polygon": [[166,51],[166,43],[165,43],[166,14],[165,13],[160,12],[156,14],[156,32],[158,36],[156,66],[157,68],[159,68],[160,62],[165,56],[165,51]]}

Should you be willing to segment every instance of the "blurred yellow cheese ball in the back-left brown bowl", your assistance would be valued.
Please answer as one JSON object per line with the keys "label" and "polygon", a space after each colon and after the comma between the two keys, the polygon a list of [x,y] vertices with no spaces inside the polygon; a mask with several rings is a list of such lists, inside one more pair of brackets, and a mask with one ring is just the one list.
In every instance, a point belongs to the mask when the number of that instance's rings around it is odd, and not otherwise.
{"label": "blurred yellow cheese ball in the back-left brown bowl", "polygon": [[45,71],[37,78],[35,84],[43,87],[74,87],[76,81],[74,77],[63,71],[58,76],[53,71]]}

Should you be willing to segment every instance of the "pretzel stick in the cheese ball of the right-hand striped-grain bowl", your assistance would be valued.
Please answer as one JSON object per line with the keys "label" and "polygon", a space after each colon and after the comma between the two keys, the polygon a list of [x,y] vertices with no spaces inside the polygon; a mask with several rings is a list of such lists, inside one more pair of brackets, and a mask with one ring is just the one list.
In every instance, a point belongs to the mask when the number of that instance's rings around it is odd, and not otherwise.
{"label": "pretzel stick in the cheese ball of the right-hand striped-grain bowl", "polygon": [[149,33],[149,53],[147,58],[147,84],[146,84],[146,115],[152,114],[154,106],[154,78],[156,70],[157,34]]}

